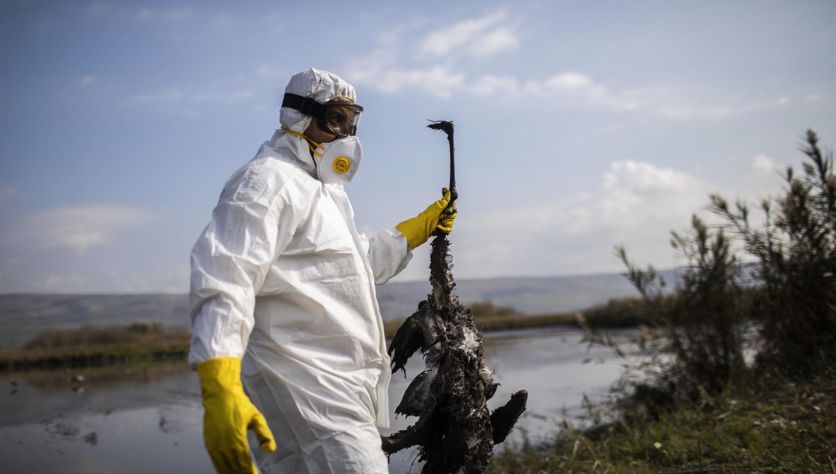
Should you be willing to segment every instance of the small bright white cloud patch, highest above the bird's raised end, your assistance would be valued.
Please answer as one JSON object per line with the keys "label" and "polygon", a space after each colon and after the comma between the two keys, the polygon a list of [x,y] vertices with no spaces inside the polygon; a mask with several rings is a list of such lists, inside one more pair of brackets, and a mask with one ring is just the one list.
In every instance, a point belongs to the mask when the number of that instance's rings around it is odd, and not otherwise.
{"label": "small bright white cloud patch, highest above the bird's raised end", "polygon": [[464,51],[485,58],[511,51],[519,46],[519,39],[511,28],[501,25],[507,14],[504,10],[472,18],[426,35],[419,47],[421,57],[445,57]]}

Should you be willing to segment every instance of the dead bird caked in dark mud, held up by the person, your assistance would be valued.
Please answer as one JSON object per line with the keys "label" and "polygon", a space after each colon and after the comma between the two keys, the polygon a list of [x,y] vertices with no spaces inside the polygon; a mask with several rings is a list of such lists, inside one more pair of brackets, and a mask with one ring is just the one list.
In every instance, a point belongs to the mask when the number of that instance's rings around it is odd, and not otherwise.
{"label": "dead bird caked in dark mud, held up by the person", "polygon": [[[442,130],[450,142],[451,209],[456,200],[453,124],[428,125]],[[436,232],[431,244],[432,291],[398,329],[389,346],[392,371],[403,370],[415,352],[424,356],[426,370],[407,387],[395,414],[417,416],[414,425],[382,436],[383,450],[391,455],[410,446],[420,446],[419,461],[425,474],[466,474],[485,470],[493,446],[511,432],[525,410],[528,394],[520,390],[505,405],[490,412],[489,400],[497,391],[493,372],[485,362],[482,334],[473,323],[470,309],[452,293],[456,283],[451,273],[450,242]]]}

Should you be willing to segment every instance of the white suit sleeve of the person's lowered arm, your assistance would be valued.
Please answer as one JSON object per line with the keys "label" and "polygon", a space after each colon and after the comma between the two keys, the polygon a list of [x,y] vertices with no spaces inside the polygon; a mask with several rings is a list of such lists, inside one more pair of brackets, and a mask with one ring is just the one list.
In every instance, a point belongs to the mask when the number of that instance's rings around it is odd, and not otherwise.
{"label": "white suit sleeve of the person's lowered arm", "polygon": [[275,182],[259,176],[227,182],[191,251],[193,365],[240,359],[247,349],[256,294],[296,227],[286,188],[270,189]]}

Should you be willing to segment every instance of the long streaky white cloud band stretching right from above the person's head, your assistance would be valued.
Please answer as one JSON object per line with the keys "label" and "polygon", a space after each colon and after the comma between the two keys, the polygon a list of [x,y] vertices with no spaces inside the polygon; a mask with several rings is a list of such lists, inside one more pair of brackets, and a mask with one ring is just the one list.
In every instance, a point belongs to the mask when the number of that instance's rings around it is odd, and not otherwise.
{"label": "long streaky white cloud band stretching right from above the person's head", "polygon": [[[513,74],[466,74],[466,69],[459,64],[462,56],[487,57],[520,46],[515,29],[507,23],[506,11],[498,10],[438,28],[423,37],[413,31],[423,24],[390,28],[379,35],[380,47],[346,62],[344,76],[385,94],[421,91],[442,99],[453,94],[496,97],[514,107],[559,99],[561,107],[640,113],[645,117],[675,120],[723,119],[793,103],[788,95],[773,100],[717,103],[711,97],[699,97],[687,87],[665,84],[624,87],[604,84],[589,74],[573,70],[543,79]],[[410,54],[413,44],[410,38],[415,37],[419,39],[414,56]]]}

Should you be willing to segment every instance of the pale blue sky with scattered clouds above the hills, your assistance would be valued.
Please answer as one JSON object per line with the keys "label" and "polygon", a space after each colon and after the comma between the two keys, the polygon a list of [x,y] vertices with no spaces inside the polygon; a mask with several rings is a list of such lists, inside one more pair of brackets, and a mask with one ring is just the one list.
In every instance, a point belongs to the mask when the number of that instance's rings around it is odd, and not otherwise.
{"label": "pale blue sky with scattered clouds above the hills", "polygon": [[[681,265],[708,196],[836,142],[836,3],[0,1],[0,293],[186,293],[293,74],[357,89],[367,235],[448,180],[456,278]],[[428,275],[429,246],[392,281]]]}

